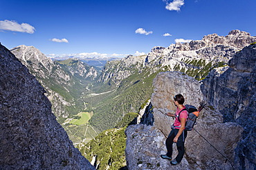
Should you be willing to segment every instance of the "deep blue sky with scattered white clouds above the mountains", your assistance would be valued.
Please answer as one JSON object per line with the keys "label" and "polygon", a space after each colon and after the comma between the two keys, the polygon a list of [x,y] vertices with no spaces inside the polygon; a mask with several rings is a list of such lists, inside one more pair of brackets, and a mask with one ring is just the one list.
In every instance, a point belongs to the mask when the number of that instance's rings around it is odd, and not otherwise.
{"label": "deep blue sky with scattered white clouds above the mountains", "polygon": [[47,56],[147,54],[230,30],[256,36],[255,9],[256,0],[1,0],[0,42]]}

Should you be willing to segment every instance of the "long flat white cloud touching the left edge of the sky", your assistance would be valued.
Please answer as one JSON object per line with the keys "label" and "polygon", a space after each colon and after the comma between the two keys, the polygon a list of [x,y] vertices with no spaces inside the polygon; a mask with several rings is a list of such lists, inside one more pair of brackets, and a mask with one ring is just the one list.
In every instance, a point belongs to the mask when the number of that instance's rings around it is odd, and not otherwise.
{"label": "long flat white cloud touching the left edge of the sky", "polygon": [[26,32],[29,34],[33,34],[35,32],[35,28],[28,23],[19,24],[16,21],[9,20],[0,21],[0,30]]}

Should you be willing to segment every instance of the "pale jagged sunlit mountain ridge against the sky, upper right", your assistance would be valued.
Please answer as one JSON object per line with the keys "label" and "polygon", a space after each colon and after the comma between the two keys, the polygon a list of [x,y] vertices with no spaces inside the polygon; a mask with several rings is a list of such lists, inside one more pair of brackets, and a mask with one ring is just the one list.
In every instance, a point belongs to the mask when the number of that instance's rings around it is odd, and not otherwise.
{"label": "pale jagged sunlit mountain ridge against the sky, upper right", "polygon": [[[141,72],[145,67],[151,67],[153,73],[159,70],[155,68],[159,65],[161,68],[167,67],[170,71],[198,76],[199,80],[208,74],[206,71],[200,72],[203,67],[210,65],[213,69],[215,63],[227,63],[235,52],[241,50],[241,47],[255,41],[256,36],[250,36],[248,32],[232,30],[228,36],[209,34],[203,36],[200,41],[176,43],[169,47],[156,46],[146,56],[127,56],[118,63],[110,61],[104,67],[100,81],[103,83],[112,81],[118,86],[123,78],[131,76],[132,72],[129,68],[136,67]],[[193,65],[193,62],[198,65]]]}

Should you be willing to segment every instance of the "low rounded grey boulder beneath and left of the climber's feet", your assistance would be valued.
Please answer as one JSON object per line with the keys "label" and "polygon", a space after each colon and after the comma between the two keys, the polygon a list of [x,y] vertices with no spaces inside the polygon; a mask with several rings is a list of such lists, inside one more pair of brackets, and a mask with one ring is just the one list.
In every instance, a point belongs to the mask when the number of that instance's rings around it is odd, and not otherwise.
{"label": "low rounded grey boulder beneath and left of the climber's feet", "polygon": [[[160,155],[165,154],[165,136],[159,129],[147,125],[130,125],[125,134],[127,136],[127,147],[125,156],[128,169],[190,169],[188,162],[184,159],[176,167],[169,160],[163,160]],[[174,151],[177,153],[177,151]]]}

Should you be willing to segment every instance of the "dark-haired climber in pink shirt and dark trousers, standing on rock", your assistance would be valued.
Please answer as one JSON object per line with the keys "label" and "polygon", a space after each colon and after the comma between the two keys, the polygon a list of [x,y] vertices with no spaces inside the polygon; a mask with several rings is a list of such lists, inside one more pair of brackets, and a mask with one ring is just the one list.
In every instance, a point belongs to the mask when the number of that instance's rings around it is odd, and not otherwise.
{"label": "dark-haired climber in pink shirt and dark trousers, standing on rock", "polygon": [[[176,113],[171,114],[167,113],[167,116],[175,117],[174,125],[172,125],[172,131],[165,141],[165,145],[167,148],[167,153],[165,155],[161,155],[161,158],[170,160],[171,164],[176,165],[179,164],[184,156],[185,148],[185,138],[187,137],[187,131],[185,131],[185,123],[188,118],[188,112],[185,110],[185,106],[183,103],[185,102],[184,97],[181,94],[177,94],[174,96],[174,105],[177,107]],[[179,119],[178,119],[179,116]],[[177,149],[179,151],[178,155],[175,159],[172,160],[172,144],[176,142]]]}

